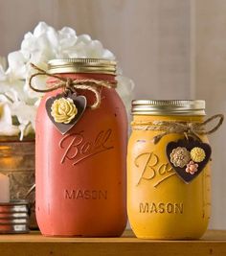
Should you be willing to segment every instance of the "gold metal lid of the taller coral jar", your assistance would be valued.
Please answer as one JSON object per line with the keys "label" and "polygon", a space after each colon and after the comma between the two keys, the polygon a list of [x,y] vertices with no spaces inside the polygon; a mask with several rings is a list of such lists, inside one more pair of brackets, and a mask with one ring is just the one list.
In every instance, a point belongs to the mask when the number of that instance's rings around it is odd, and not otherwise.
{"label": "gold metal lid of the taller coral jar", "polygon": [[116,61],[103,58],[58,58],[48,62],[50,74],[96,73],[116,75]]}

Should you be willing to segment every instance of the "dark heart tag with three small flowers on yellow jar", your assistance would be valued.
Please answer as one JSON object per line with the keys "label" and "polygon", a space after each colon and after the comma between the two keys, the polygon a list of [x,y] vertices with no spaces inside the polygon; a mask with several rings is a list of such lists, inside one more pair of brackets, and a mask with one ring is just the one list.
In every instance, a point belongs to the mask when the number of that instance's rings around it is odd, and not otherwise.
{"label": "dark heart tag with three small flowers on yellow jar", "polygon": [[199,175],[211,157],[211,146],[193,138],[169,142],[167,156],[171,167],[186,183]]}

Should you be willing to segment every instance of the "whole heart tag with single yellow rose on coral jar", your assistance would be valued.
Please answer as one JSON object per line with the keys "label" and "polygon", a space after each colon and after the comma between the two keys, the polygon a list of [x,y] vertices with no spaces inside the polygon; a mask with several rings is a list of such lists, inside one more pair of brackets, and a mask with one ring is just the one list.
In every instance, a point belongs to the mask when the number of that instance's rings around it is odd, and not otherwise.
{"label": "whole heart tag with single yellow rose on coral jar", "polygon": [[78,123],[86,104],[86,98],[76,93],[58,94],[46,101],[46,110],[56,128],[65,134]]}

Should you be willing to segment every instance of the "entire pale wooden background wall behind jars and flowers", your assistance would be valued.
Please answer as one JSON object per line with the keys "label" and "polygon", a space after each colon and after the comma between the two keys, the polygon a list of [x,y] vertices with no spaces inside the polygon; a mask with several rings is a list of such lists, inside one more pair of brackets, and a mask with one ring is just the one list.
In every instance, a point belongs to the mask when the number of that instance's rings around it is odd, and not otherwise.
{"label": "entire pale wooden background wall behind jars and flowers", "polygon": [[[0,55],[38,21],[100,39],[135,83],[135,98],[204,99],[226,109],[225,0],[0,0]],[[225,125],[214,148],[212,228],[226,228]],[[194,195],[195,197],[195,195]]]}

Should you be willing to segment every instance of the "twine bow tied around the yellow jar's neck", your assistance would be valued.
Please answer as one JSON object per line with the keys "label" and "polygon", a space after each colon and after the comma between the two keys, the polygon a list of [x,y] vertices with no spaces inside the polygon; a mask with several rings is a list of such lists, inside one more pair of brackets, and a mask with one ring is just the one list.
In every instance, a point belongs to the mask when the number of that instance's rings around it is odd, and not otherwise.
{"label": "twine bow tied around the yellow jar's neck", "polygon": [[[206,125],[215,119],[219,119],[214,128],[206,130]],[[208,118],[203,123],[194,122],[169,122],[169,121],[152,121],[152,122],[132,122],[134,129],[160,130],[164,131],[153,137],[154,144],[157,144],[164,136],[170,133],[185,134],[200,140],[199,135],[214,133],[223,123],[224,115],[217,114]],[[139,127],[143,126],[143,128]]]}

